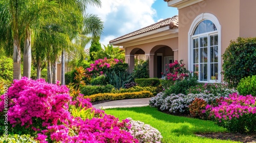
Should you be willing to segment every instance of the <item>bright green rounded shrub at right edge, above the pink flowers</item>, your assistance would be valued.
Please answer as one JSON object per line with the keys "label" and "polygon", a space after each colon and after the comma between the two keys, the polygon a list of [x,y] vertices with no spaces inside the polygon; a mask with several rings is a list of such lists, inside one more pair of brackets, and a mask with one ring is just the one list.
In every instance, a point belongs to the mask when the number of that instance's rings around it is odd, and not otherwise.
{"label": "bright green rounded shrub at right edge, above the pink flowers", "polygon": [[251,94],[256,97],[256,75],[243,78],[238,84],[239,94],[246,96]]}

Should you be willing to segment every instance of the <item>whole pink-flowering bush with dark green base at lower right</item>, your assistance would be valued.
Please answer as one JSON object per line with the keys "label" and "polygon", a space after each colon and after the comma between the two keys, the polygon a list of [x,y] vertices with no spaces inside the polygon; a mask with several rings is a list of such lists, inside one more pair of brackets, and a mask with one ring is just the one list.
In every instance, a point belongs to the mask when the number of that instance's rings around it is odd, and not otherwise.
{"label": "whole pink-flowering bush with dark green base at lower right", "polygon": [[218,125],[231,132],[253,133],[256,132],[256,97],[251,95],[240,96],[232,93],[228,98],[221,98],[218,106],[207,105],[218,121]]}

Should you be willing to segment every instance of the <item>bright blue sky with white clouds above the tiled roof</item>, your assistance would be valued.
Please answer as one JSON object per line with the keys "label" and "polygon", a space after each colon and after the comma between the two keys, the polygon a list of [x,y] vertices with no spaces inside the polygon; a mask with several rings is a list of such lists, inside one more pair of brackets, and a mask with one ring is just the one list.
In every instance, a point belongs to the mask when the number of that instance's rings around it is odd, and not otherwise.
{"label": "bright blue sky with white clouds above the tiled roof", "polygon": [[177,8],[168,7],[163,0],[102,0],[101,3],[101,8],[88,7],[87,13],[97,14],[104,22],[100,37],[100,43],[104,45],[117,37],[178,15]]}

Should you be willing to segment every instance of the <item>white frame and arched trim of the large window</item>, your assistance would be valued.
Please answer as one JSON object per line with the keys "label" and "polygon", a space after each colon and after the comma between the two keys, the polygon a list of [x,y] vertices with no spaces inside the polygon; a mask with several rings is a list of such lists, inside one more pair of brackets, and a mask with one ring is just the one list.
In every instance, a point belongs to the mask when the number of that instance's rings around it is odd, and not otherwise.
{"label": "white frame and arched trim of the large window", "polygon": [[[193,35],[195,29],[197,28],[198,24],[203,21],[203,20],[210,20],[212,21],[217,30],[216,31],[212,31],[212,32],[207,32],[207,33],[202,33],[202,34],[198,34],[198,35]],[[210,35],[215,35],[218,34],[218,80],[211,80],[210,79],[210,64],[208,61],[208,66],[207,66],[207,81],[200,81],[202,83],[215,83],[215,82],[221,82],[221,63],[222,63],[222,59],[221,59],[221,25],[220,22],[218,20],[218,18],[211,14],[211,13],[202,13],[200,15],[198,15],[194,21],[191,23],[191,26],[189,28],[188,31],[188,70],[189,71],[193,71],[193,38],[195,37],[201,37],[201,36],[207,36],[207,38],[209,38]],[[209,40],[209,39],[208,39]],[[208,42],[208,51],[209,51],[209,42]],[[199,69],[200,71],[200,69]]]}

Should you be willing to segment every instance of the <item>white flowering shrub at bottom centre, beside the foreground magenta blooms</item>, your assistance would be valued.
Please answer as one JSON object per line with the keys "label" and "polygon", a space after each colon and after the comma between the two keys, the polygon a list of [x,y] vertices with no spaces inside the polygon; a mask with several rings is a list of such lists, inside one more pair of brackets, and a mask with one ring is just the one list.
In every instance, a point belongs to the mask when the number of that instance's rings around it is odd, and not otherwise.
{"label": "white flowering shrub at bottom centre, beside the foreground magenta blooms", "polygon": [[139,140],[140,143],[148,142],[148,143],[160,143],[162,140],[161,133],[153,128],[152,126],[145,124],[140,121],[134,121],[132,118],[127,118],[130,120],[131,129],[127,131],[132,134],[136,139]]}

